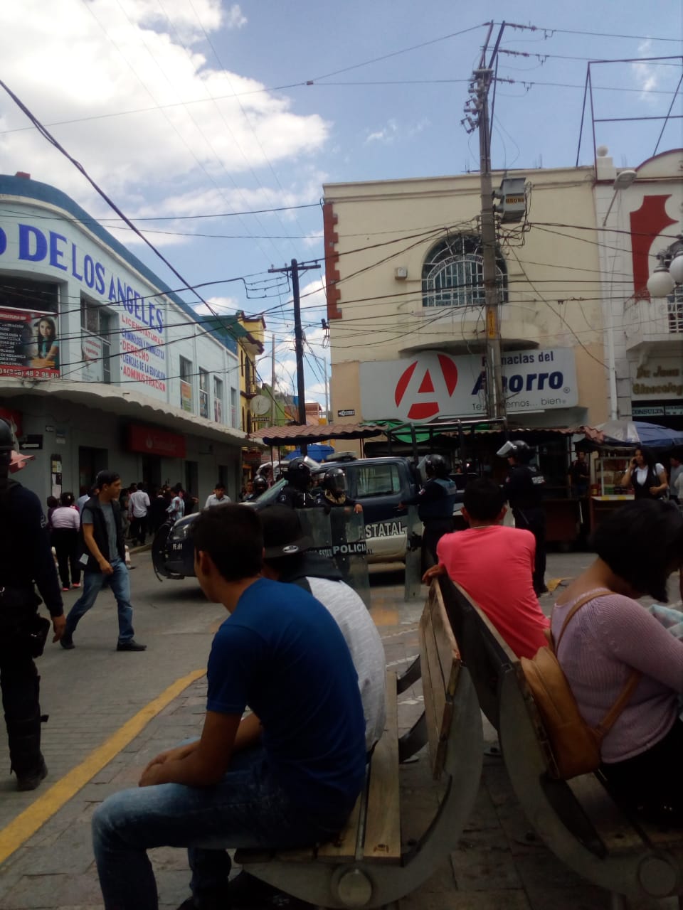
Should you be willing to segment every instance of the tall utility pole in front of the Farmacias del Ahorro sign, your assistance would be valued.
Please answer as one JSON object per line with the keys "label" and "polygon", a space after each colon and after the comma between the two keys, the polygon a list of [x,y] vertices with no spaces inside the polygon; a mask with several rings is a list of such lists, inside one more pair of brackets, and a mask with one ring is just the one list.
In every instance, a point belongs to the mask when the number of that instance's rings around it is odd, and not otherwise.
{"label": "tall utility pole in front of the Farmacias del Ahorro sign", "polygon": [[470,98],[464,106],[462,123],[468,133],[479,130],[479,179],[481,187],[482,271],[484,281],[484,315],[486,325],[485,377],[486,413],[491,418],[505,418],[503,395],[503,364],[501,360],[500,323],[498,319],[498,277],[495,268],[494,188],[491,177],[491,126],[489,124],[488,93],[494,81],[494,60],[498,53],[505,22],[500,26],[488,66],[486,50],[493,22],[489,24],[479,66],[472,74]]}

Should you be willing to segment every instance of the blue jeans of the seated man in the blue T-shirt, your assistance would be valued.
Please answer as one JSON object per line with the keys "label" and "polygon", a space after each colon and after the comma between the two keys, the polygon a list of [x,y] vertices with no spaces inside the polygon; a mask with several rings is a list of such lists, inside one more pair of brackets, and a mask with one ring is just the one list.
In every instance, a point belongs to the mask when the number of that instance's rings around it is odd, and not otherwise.
{"label": "blue jeans of the seated man in the blue T-shirt", "polygon": [[[273,779],[262,748],[238,753],[215,786],[158,784],[109,796],[93,815],[93,846],[105,910],[157,910],[152,847],[188,847],[194,895],[228,881],[228,847],[299,847],[329,840]],[[338,824],[337,824],[338,823]]]}

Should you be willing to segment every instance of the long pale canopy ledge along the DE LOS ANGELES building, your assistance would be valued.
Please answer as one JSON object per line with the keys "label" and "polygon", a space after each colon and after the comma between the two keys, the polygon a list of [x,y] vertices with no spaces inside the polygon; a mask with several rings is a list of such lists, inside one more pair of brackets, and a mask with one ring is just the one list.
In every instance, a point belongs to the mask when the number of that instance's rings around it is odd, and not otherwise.
{"label": "long pale canopy ledge along the DE LOS ANGELES building", "polygon": [[[189,414],[188,411],[176,408],[168,402],[158,401],[140,395],[138,392],[122,391],[120,386],[107,385],[101,382],[74,382],[66,379],[45,379],[28,382],[25,379],[4,377],[0,389],[3,403],[12,407],[12,399],[20,396],[35,396],[71,401],[117,417],[127,417],[173,430],[176,433],[187,433],[205,440],[215,440],[226,445],[241,448],[248,444],[246,433],[232,427],[221,426],[212,420]],[[259,445],[254,440],[250,445]]]}

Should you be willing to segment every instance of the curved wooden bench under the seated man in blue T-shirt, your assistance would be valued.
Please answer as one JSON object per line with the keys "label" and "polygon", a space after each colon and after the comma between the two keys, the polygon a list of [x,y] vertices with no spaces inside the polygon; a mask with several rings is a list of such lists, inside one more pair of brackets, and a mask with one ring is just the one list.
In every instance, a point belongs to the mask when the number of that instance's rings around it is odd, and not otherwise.
{"label": "curved wooden bench under the seated man in blue T-shirt", "polygon": [[[399,735],[398,699],[422,677],[424,710]],[[413,758],[427,744],[437,793],[429,824],[402,840],[402,776],[414,781]],[[239,850],[251,875],[322,907],[382,907],[422,885],[454,851],[472,810],[482,771],[482,718],[438,586],[420,622],[420,656],[402,677],[387,675],[387,720],[368,764],[353,813],[329,844],[308,850]],[[421,784],[423,785],[423,784]],[[428,785],[431,793],[432,784]],[[410,801],[408,801],[410,804]],[[438,807],[438,808],[437,808]]]}

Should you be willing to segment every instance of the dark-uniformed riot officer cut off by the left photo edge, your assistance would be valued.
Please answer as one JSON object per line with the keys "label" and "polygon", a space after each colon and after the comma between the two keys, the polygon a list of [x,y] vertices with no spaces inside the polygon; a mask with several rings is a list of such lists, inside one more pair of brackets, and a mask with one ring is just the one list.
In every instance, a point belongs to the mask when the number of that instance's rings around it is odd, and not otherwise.
{"label": "dark-uniformed riot officer cut off by the left photo edge", "polygon": [[35,790],[46,776],[40,751],[40,677],[34,658],[43,652],[49,622],[58,641],[65,629],[62,595],[47,537],[46,519],[35,493],[9,479],[12,431],[0,420],[0,686],[12,770],[19,790]]}

